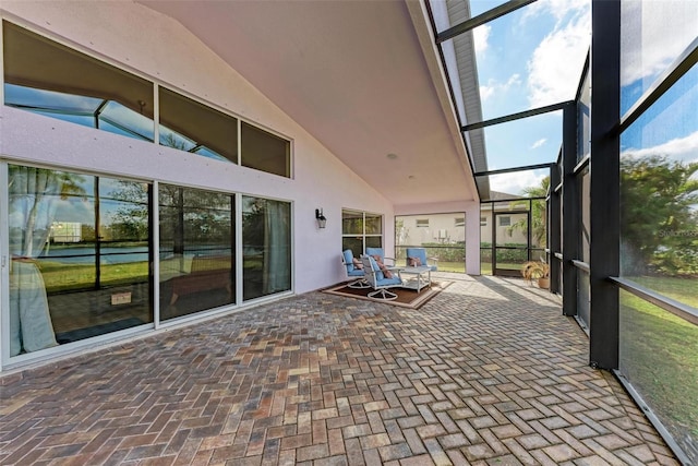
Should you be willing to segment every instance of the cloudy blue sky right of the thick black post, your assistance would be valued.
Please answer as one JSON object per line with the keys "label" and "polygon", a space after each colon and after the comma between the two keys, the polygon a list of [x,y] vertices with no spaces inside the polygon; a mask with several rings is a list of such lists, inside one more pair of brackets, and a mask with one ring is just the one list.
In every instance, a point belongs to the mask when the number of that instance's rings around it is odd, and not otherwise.
{"label": "cloudy blue sky right of the thick black post", "polygon": [[[698,1],[624,3],[621,112],[626,112],[697,40]],[[698,64],[621,136],[624,157],[698,162]]]}

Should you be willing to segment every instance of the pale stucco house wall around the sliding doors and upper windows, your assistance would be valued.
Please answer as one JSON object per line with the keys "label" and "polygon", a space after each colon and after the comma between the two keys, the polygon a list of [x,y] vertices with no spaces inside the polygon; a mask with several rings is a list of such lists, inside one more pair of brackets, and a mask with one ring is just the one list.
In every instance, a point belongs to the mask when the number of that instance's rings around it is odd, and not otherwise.
{"label": "pale stucco house wall around the sliding doors and upper windows", "polygon": [[[346,278],[342,208],[383,214],[384,246],[393,250],[392,204],[180,23],[132,2],[3,1],[0,8],[21,26],[290,139],[293,179],[0,106],[3,159],[291,201],[297,292]],[[320,207],[323,230],[314,218]]]}

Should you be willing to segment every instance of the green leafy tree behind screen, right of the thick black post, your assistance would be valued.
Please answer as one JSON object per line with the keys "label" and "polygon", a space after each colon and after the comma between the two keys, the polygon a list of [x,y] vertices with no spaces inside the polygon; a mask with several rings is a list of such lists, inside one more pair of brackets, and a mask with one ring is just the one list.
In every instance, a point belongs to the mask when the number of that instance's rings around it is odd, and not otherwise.
{"label": "green leafy tree behind screen, right of the thick black post", "polygon": [[698,163],[621,160],[623,272],[698,273]]}

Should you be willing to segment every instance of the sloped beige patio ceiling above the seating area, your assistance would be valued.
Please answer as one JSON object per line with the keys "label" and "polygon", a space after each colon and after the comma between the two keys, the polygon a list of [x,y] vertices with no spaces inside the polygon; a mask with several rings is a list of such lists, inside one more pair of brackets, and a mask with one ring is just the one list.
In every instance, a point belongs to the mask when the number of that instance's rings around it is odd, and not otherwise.
{"label": "sloped beige patio ceiling above the seating area", "polygon": [[139,3],[179,21],[396,206],[477,200],[419,2]]}

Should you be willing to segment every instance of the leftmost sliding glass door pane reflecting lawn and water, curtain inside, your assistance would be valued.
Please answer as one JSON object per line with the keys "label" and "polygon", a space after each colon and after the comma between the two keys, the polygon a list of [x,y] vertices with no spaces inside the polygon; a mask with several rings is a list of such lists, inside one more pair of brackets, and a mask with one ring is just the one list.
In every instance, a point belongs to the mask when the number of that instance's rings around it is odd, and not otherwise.
{"label": "leftmost sliding glass door pane reflecting lawn and water, curtain inside", "polygon": [[11,356],[153,321],[148,191],[9,166]]}

